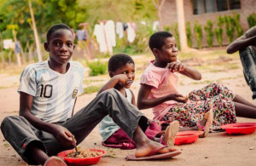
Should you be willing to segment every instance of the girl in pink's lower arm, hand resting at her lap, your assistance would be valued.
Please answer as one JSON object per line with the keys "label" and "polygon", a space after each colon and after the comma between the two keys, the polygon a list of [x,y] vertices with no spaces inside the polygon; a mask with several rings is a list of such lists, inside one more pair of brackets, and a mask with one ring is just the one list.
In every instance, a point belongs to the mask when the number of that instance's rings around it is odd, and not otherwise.
{"label": "girl in pink's lower arm, hand resting at her lap", "polygon": [[150,94],[152,86],[147,84],[141,84],[141,88],[139,89],[139,93],[137,96],[137,107],[138,109],[147,109],[152,108],[154,106],[160,105],[166,100],[176,100],[177,102],[187,102],[188,98],[183,96],[182,94],[168,94],[166,96],[157,98],[157,99],[148,99],[148,95]]}

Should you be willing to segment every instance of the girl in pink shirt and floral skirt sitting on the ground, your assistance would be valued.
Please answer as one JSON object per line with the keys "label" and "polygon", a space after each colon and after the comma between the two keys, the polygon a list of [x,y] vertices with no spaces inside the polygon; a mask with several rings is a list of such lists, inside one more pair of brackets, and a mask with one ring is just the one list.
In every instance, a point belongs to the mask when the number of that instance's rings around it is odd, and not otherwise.
{"label": "girl in pink shirt and floral skirt sitting on the ground", "polygon": [[201,80],[201,73],[177,60],[177,43],[171,33],[155,32],[149,38],[149,47],[155,60],[141,77],[137,106],[139,109],[153,107],[154,119],[166,123],[177,120],[184,127],[180,130],[204,130],[205,127],[204,137],[210,126],[211,130],[221,129],[223,124],[236,123],[236,116],[256,118],[256,106],[221,83],[210,83],[203,89],[193,90],[189,96],[179,94],[178,74]]}

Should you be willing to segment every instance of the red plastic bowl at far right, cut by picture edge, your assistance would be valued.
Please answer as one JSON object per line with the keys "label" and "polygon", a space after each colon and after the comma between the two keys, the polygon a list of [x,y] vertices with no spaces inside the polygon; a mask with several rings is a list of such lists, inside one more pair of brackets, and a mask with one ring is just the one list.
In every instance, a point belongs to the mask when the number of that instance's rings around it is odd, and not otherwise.
{"label": "red plastic bowl at far right, cut by picture edge", "polygon": [[256,123],[230,123],[221,126],[229,135],[252,134],[256,129]]}

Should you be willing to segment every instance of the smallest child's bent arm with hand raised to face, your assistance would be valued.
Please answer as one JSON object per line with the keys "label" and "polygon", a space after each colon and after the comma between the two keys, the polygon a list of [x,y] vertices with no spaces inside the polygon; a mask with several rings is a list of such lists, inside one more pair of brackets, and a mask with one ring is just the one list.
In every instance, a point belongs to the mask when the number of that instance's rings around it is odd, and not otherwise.
{"label": "smallest child's bent arm with hand raised to face", "polygon": [[113,76],[108,83],[104,84],[102,86],[102,89],[100,89],[98,91],[97,94],[101,94],[103,91],[107,90],[107,89],[113,89],[113,87],[119,83],[120,85],[125,85],[125,83],[127,83],[128,81],[128,77],[125,74],[119,74],[119,75],[115,75]]}

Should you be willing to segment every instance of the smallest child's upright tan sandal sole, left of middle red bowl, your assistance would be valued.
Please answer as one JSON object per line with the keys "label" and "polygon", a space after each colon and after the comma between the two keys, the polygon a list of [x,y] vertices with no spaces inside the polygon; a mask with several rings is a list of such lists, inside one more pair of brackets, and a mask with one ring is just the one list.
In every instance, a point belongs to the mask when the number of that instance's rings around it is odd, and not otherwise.
{"label": "smallest child's upright tan sandal sole, left of middle red bowl", "polygon": [[174,146],[175,142],[175,135],[177,134],[179,129],[178,121],[173,121],[170,125],[166,128],[166,133],[164,135],[164,142],[166,146]]}

